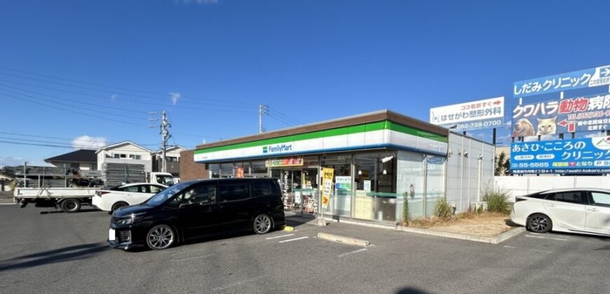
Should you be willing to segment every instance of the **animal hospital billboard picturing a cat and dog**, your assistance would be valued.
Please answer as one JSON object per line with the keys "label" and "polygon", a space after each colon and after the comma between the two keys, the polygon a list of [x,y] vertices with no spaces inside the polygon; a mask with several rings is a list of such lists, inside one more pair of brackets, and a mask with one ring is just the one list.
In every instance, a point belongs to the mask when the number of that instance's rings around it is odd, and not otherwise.
{"label": "animal hospital billboard picturing a cat and dog", "polygon": [[524,102],[513,109],[513,137],[610,130],[610,94]]}

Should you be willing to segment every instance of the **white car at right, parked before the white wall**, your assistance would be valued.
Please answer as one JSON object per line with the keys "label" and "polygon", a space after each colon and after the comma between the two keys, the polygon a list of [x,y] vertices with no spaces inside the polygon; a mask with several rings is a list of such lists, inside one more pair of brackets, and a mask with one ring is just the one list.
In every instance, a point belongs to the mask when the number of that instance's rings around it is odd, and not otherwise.
{"label": "white car at right, parked before the white wall", "polygon": [[531,232],[610,236],[610,190],[548,190],[515,199],[510,220]]}

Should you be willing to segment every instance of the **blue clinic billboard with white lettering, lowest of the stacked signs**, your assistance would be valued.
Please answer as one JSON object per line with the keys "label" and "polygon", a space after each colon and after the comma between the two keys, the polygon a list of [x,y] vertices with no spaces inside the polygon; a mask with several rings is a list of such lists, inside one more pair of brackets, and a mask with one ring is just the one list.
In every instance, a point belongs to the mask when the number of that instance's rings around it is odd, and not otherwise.
{"label": "blue clinic billboard with white lettering, lowest of the stacked signs", "polygon": [[610,172],[610,137],[510,144],[513,174],[605,174]]}

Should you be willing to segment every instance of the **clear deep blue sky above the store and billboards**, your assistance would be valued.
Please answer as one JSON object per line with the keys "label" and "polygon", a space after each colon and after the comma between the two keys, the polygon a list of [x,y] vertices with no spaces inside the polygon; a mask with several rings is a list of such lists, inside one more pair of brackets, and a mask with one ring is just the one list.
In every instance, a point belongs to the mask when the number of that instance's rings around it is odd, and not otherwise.
{"label": "clear deep blue sky above the store and billboards", "polygon": [[431,107],[498,96],[510,106],[517,80],[609,64],[609,10],[607,1],[1,1],[0,165],[40,164],[78,138],[156,149],[148,113],[161,110],[170,144],[194,148],[257,133],[262,103],[269,131],[380,109],[427,121]]}

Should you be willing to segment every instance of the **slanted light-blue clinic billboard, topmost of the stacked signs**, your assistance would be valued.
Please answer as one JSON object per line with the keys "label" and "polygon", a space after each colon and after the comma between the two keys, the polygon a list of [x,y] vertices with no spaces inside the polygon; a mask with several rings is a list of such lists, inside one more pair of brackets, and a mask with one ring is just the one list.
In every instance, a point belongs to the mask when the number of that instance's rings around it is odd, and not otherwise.
{"label": "slanted light-blue clinic billboard, topmost of the stacked signs", "polygon": [[610,65],[521,80],[513,84],[513,97],[527,97],[600,85],[610,85]]}

